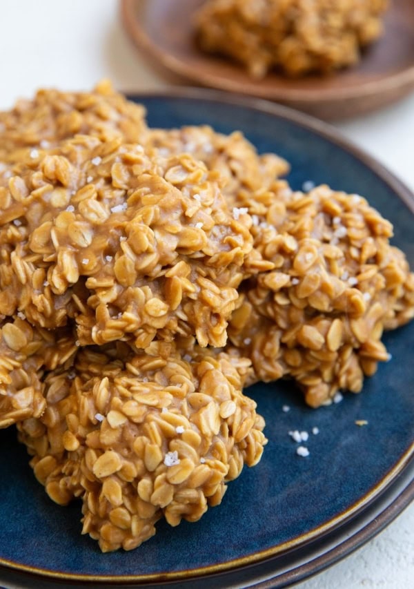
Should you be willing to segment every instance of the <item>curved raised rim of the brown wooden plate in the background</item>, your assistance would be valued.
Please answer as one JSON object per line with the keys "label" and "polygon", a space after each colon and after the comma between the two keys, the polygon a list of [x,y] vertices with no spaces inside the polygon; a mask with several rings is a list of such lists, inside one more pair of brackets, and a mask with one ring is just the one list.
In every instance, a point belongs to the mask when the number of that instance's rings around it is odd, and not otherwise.
{"label": "curved raised rim of the brown wooden plate in the background", "polygon": [[[148,0],[139,0],[140,2],[148,2]],[[120,0],[119,10],[121,14],[121,21],[124,28],[128,32],[130,39],[134,42],[136,48],[144,51],[157,64],[166,68],[170,73],[175,73],[181,78],[196,81],[197,84],[204,86],[211,86],[219,88],[228,92],[237,91],[243,94],[251,92],[246,90],[242,83],[238,81],[228,81],[224,77],[217,77],[210,75],[210,73],[201,72],[198,68],[193,68],[184,61],[170,55],[161,50],[155,43],[152,42],[151,37],[146,33],[146,30],[139,26],[135,18],[134,7],[137,0]],[[389,10],[396,10],[394,4]],[[379,90],[392,91],[395,88],[411,88],[414,84],[414,64],[397,73],[390,73],[382,79],[366,80],[362,84],[355,86],[345,86],[344,88],[324,88],[320,91],[318,88],[262,88],[257,85],[254,95],[263,99],[281,100],[287,102],[296,102],[297,104],[304,104],[307,106],[315,105],[315,102],[333,102],[339,103],[346,99],[359,99],[376,95]],[[380,88],[379,88],[380,86]]]}

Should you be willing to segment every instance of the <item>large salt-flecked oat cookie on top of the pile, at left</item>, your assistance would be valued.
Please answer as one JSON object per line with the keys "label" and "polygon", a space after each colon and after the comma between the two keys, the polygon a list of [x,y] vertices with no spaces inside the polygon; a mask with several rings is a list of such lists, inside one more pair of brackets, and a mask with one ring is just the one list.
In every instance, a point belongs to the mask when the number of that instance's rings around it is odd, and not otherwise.
{"label": "large salt-flecked oat cookie on top of the pile, at left", "polygon": [[27,150],[12,171],[0,188],[3,316],[18,309],[47,329],[74,318],[80,345],[224,345],[252,238],[217,173],[86,135]]}

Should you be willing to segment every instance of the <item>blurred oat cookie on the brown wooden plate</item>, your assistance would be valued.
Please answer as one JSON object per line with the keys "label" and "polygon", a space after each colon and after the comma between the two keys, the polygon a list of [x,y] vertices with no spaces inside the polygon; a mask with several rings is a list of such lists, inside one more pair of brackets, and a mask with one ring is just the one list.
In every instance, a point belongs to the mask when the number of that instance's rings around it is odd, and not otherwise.
{"label": "blurred oat cookie on the brown wooden plate", "polygon": [[201,49],[242,63],[262,78],[352,66],[382,34],[387,0],[206,0],[195,26]]}

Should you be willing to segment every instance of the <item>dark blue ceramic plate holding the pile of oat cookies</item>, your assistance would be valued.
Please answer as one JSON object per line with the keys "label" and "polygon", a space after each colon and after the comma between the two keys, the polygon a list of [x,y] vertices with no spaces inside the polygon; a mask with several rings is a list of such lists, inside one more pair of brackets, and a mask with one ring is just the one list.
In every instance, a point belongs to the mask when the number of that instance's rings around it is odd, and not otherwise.
{"label": "dark blue ceramic plate holding the pile of oat cookies", "polygon": [[[206,90],[168,90],[137,100],[148,108],[150,126],[208,123],[224,133],[241,129],[259,152],[286,157],[295,189],[312,180],[366,195],[393,222],[393,241],[414,266],[412,195],[325,124],[274,104]],[[343,556],[414,495],[414,322],[384,340],[391,362],[366,380],[362,394],[348,394],[337,405],[310,409],[288,383],[251,387],[248,394],[266,418],[269,438],[261,463],[230,483],[221,505],[201,521],[178,528],[160,521],[155,537],[132,552],[101,554],[95,541],[81,536],[80,506],[52,503],[35,481],[14,430],[1,431],[0,563],[61,580],[219,587],[234,583],[237,574],[258,583],[293,568],[290,581],[297,581]],[[282,405],[290,411],[283,412]],[[357,427],[359,419],[368,425]],[[313,427],[319,434],[310,435],[311,454],[299,458],[288,432]],[[387,515],[381,520],[382,512]],[[349,543],[361,528],[371,532]],[[323,561],[328,553],[332,556]]]}

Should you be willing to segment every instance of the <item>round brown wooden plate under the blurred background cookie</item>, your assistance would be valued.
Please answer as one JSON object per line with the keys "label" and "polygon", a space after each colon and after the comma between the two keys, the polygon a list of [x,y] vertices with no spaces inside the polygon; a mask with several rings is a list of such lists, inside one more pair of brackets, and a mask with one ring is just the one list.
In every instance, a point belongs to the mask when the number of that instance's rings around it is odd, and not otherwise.
{"label": "round brown wooden plate under the blurred background cookie", "polygon": [[386,33],[361,63],[329,77],[291,80],[277,73],[256,81],[232,61],[204,55],[194,41],[193,14],[203,0],[121,0],[135,44],[181,79],[268,98],[324,119],[361,115],[414,89],[414,1],[393,0]]}

